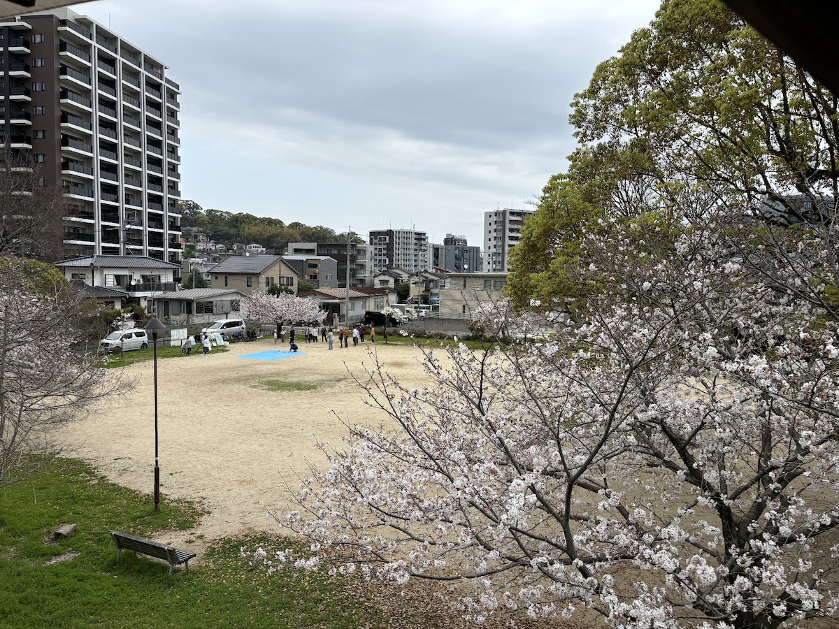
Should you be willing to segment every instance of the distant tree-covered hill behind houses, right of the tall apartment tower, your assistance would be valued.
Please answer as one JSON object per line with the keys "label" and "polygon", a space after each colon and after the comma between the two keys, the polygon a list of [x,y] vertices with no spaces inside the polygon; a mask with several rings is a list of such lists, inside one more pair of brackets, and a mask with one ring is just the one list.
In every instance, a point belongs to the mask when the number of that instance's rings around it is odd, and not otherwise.
{"label": "distant tree-covered hill behind houses, right of the tall apartment tower", "polygon": [[[191,200],[181,200],[181,227],[199,227],[217,244],[232,247],[234,242],[256,242],[268,250],[284,252],[289,242],[336,242],[347,238],[324,226],[308,226],[300,222],[286,225],[279,218],[263,218],[252,214],[233,214],[223,210],[205,210]],[[184,237],[190,242],[190,234]]]}

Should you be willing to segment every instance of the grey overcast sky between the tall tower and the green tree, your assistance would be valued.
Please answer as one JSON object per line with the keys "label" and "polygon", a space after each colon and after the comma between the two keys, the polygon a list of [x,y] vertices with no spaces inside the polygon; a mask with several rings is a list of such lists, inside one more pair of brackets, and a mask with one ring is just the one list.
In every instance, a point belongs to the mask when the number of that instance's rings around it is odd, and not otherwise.
{"label": "grey overcast sky between the tall tower and the green tree", "polygon": [[569,103],[653,0],[96,0],[180,83],[181,192],[367,237],[521,208],[573,149]]}

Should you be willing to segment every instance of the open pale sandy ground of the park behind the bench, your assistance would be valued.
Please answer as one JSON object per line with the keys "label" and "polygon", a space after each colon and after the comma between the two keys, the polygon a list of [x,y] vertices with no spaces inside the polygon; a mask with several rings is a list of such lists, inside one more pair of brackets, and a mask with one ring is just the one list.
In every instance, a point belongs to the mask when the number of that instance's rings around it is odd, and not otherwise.
{"label": "open pale sandy ground of the park behind the bench", "polygon": [[[244,531],[279,530],[268,511],[293,508],[285,481],[297,486],[307,461],[324,462],[315,439],[341,444],[346,429],[330,410],[351,423],[373,420],[365,393],[351,372],[363,373],[375,348],[386,370],[400,382],[423,377],[411,346],[367,343],[341,349],[300,343],[300,352],[281,360],[242,358],[287,350],[273,339],[235,343],[209,356],[195,347],[191,356],[159,359],[160,492],[201,502],[210,511],[200,526],[178,533],[207,540]],[[88,460],[111,481],[154,490],[154,372],[152,361],[126,367],[136,388],[112,400],[94,417],[70,425],[63,440],[70,455]],[[316,391],[267,392],[258,383],[279,379],[324,382]],[[149,498],[151,500],[151,498]],[[190,543],[195,548],[195,543]]]}

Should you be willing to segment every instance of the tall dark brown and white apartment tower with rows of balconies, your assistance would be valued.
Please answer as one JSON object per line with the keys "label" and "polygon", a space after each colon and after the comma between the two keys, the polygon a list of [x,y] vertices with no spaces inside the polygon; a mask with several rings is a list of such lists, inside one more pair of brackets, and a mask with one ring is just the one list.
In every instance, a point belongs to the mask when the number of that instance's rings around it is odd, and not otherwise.
{"label": "tall dark brown and white apartment tower with rows of balconies", "polygon": [[180,88],[149,53],[67,8],[0,22],[0,123],[67,200],[65,257],[180,262]]}

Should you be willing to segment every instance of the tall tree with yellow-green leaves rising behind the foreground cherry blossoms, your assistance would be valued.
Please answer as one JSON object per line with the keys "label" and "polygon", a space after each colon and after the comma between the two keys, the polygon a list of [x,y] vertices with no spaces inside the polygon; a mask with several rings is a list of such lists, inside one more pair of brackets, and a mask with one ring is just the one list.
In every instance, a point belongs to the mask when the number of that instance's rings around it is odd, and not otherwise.
{"label": "tall tree with yellow-green leaves rising behind the foreground cherry blossoms", "polygon": [[[574,299],[565,267],[586,266],[576,242],[602,216],[695,222],[716,207],[766,219],[769,203],[786,222],[833,220],[836,96],[723,3],[666,0],[572,106],[579,146],[568,173],[546,186],[513,250],[509,286],[519,307],[531,296]],[[800,230],[737,237],[789,252]],[[744,263],[762,274],[759,251],[744,249]],[[816,282],[800,297],[825,307],[825,289]]]}

